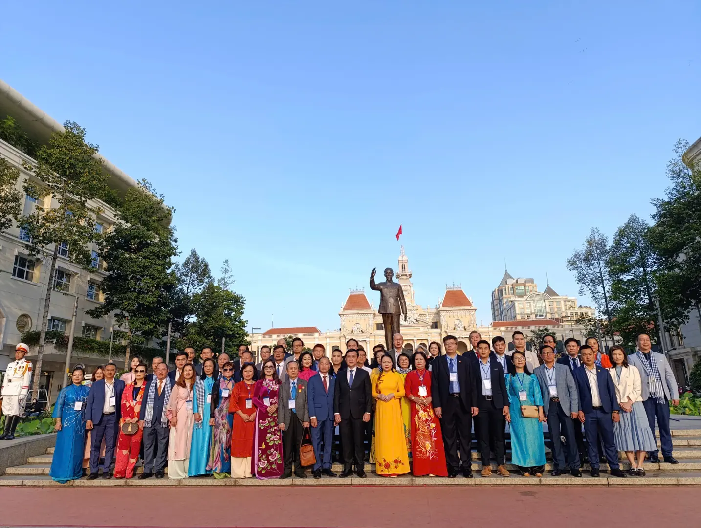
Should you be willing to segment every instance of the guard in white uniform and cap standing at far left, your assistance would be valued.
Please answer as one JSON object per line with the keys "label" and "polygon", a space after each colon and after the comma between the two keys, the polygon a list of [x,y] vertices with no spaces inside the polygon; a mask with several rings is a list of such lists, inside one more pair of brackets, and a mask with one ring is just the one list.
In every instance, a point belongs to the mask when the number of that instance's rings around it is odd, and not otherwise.
{"label": "guard in white uniform and cap standing at far left", "polygon": [[20,415],[25,412],[25,402],[32,381],[32,363],[25,360],[29,346],[20,343],[15,347],[15,360],[7,365],[2,381],[2,412],[5,414],[5,430],[0,440],[15,438]]}

